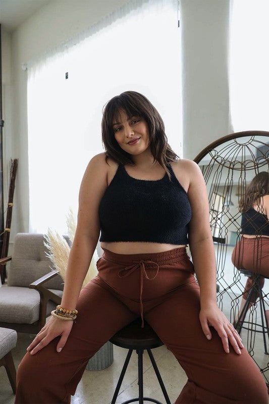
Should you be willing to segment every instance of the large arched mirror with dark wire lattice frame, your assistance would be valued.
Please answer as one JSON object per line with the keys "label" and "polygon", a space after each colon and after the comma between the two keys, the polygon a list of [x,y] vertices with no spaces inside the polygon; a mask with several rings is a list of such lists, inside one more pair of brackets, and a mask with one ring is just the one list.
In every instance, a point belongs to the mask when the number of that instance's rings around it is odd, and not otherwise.
{"label": "large arched mirror with dark wire lattice frame", "polygon": [[[256,213],[262,215],[264,223],[256,226],[253,235],[248,236],[255,239],[247,241],[254,243],[257,250],[256,253],[254,249],[252,252],[251,257],[256,257],[253,258],[253,265],[246,271],[243,265],[239,265],[239,260],[235,262],[232,257],[237,249],[237,256],[246,259],[247,251],[241,248],[243,242],[240,241],[245,240],[241,228],[244,212],[241,201],[258,173],[264,172],[269,176],[269,132],[248,131],[225,136],[207,146],[194,161],[199,165],[207,187],[209,220],[217,261],[218,304],[222,310],[230,313],[230,321],[240,332],[249,354],[269,383],[268,355],[257,354],[260,347],[268,354],[269,342],[269,324],[266,324],[266,315],[269,314],[269,273],[266,277],[266,266],[262,269],[260,265],[261,256],[269,257],[269,251],[264,251],[264,248],[269,250],[269,238],[267,242],[268,236],[263,235],[264,231],[268,231],[269,224],[259,204]],[[266,190],[263,192],[269,193]],[[253,219],[248,219],[250,222]],[[263,231],[259,231],[259,228],[263,228]],[[261,240],[265,240],[262,251]],[[259,263],[260,268],[254,262]]]}

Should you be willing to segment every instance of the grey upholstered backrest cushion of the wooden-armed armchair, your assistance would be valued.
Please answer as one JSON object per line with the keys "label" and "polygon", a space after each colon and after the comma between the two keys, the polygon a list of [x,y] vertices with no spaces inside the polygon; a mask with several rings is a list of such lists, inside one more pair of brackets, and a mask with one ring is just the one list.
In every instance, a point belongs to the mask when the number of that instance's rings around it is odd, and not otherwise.
{"label": "grey upholstered backrest cushion of the wooden-armed armchair", "polygon": [[[29,286],[48,274],[52,262],[46,256],[43,234],[17,233],[14,239],[14,251],[8,269],[9,286]],[[60,275],[44,283],[46,288],[63,290],[64,282]]]}

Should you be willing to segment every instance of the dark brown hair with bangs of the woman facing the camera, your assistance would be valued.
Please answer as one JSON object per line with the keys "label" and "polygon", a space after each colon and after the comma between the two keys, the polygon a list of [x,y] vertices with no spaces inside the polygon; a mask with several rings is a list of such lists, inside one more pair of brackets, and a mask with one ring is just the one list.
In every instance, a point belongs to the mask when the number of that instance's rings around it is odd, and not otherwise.
{"label": "dark brown hair with bangs of the woman facing the camera", "polygon": [[101,131],[106,162],[108,158],[111,158],[123,165],[134,164],[132,156],[123,150],[115,139],[113,122],[114,120],[118,121],[120,110],[126,112],[128,119],[133,116],[140,116],[146,121],[151,154],[154,161],[157,161],[170,177],[167,164],[177,161],[179,157],[168,144],[165,125],[158,111],[144,95],[136,91],[125,91],[116,95],[103,108]]}

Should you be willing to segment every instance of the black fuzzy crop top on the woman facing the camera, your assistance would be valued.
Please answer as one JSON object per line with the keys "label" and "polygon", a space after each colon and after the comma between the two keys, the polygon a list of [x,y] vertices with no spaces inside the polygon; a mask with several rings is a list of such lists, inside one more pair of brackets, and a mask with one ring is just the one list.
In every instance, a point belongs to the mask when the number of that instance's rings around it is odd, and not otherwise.
{"label": "black fuzzy crop top on the woman facing the camera", "polygon": [[119,164],[99,205],[100,241],[187,244],[191,206],[168,165],[160,180],[131,177]]}

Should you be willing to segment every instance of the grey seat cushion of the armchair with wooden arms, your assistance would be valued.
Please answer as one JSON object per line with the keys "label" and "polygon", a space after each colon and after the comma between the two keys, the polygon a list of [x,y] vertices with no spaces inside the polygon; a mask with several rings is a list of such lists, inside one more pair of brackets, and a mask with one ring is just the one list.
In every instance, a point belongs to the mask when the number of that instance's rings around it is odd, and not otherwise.
{"label": "grey seat cushion of the armchair with wooden arms", "polygon": [[[61,290],[49,289],[58,296]],[[35,289],[18,286],[7,286],[0,289],[0,322],[33,324],[39,319],[40,295]],[[47,315],[56,308],[52,301],[48,302]]]}

